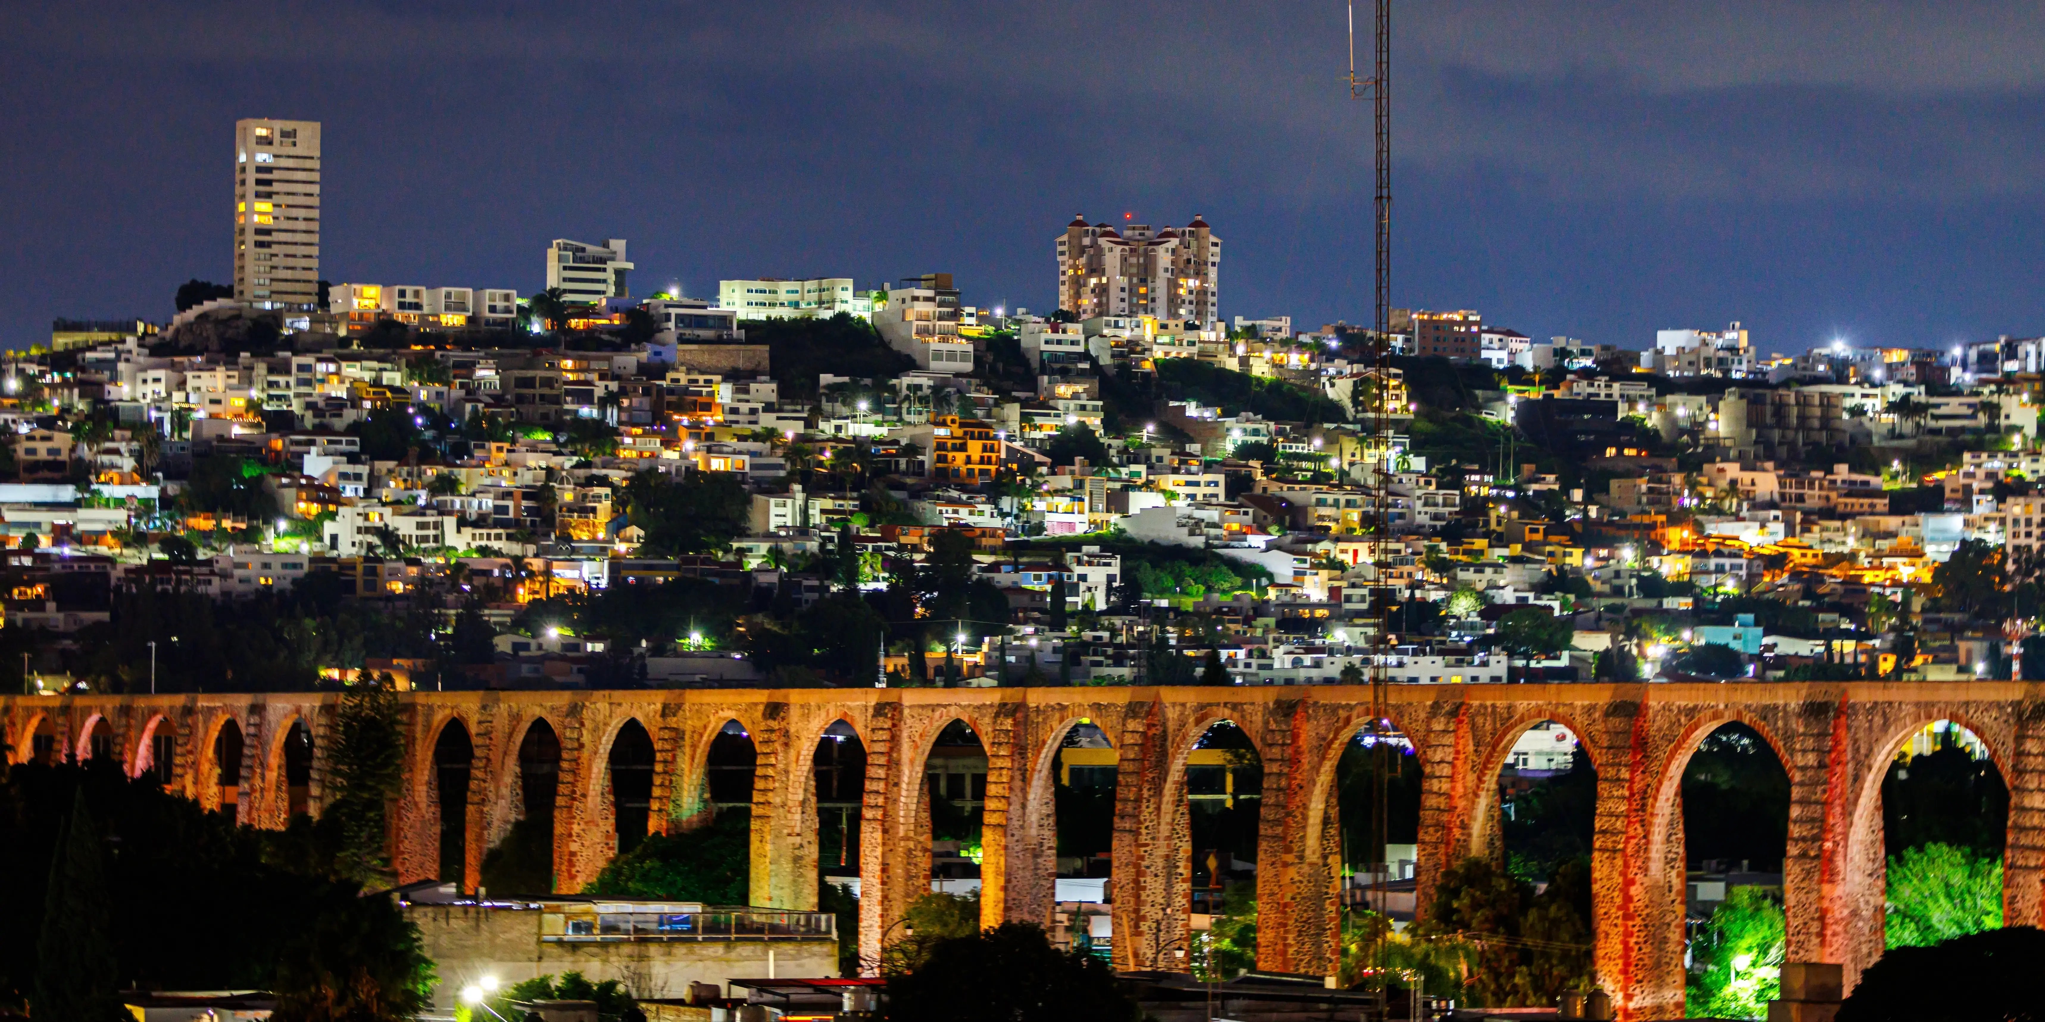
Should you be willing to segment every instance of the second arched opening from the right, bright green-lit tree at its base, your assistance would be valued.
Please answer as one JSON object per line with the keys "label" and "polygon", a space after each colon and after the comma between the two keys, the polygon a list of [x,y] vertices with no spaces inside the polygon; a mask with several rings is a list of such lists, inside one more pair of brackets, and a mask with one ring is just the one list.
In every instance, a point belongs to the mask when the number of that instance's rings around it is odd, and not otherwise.
{"label": "second arched opening from the right, bright green-lit tree at its base", "polygon": [[1689,1014],[1763,1018],[1787,950],[1789,773],[1746,724],[1724,724],[1683,766],[1683,936]]}

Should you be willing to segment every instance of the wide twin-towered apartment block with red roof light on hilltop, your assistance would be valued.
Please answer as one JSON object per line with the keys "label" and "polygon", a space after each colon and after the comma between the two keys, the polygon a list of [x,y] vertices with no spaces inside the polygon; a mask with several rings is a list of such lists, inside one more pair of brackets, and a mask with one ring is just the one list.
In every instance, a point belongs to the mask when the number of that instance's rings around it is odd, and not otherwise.
{"label": "wide twin-towered apartment block with red roof light on hilltop", "polygon": [[1198,215],[1184,229],[1117,229],[1074,217],[1057,237],[1057,307],[1078,319],[1221,319],[1221,239]]}

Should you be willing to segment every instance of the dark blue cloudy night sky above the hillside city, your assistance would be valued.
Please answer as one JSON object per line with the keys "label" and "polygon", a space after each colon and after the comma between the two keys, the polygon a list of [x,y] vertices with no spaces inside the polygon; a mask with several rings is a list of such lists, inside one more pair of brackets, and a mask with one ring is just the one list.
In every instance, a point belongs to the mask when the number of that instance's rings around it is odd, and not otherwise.
{"label": "dark blue cloudy night sky above the hillside city", "polygon": [[[1395,6],[1393,300],[1642,347],[2045,333],[2045,6]],[[1368,47],[1368,39],[1362,39]],[[1223,315],[1368,321],[1339,2],[0,8],[0,343],[231,276],[233,121],[323,121],[321,276],[634,292],[955,274],[1047,311],[1090,219],[1225,239]]]}

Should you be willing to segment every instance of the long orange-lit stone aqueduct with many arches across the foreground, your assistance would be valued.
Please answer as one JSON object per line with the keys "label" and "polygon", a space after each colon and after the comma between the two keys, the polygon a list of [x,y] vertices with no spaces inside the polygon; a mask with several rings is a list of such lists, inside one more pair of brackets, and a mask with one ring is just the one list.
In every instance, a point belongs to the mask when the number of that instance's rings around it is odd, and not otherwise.
{"label": "long orange-lit stone aqueduct with many arches across the foreground", "polygon": [[[2006,920],[2041,924],[2045,893],[2045,687],[2029,683],[1730,683],[1730,685],[1395,685],[1391,719],[1421,762],[1419,903],[1444,863],[1499,854],[1497,771],[1517,736],[1554,719],[1575,730],[1597,769],[1593,850],[1595,969],[1622,1018],[1683,1014],[1683,814],[1689,752],[1718,726],[1765,736],[1789,783],[1785,905],[1791,961],[1843,963],[1859,975],[1883,946],[1881,779],[1902,744],[1933,719],[1973,730],[2010,785]],[[814,908],[818,826],[812,756],[834,722],[867,748],[859,873],[859,942],[873,953],[918,891],[928,889],[924,756],[953,719],[988,750],[982,912],[1047,920],[1053,905],[1053,752],[1080,719],[1119,750],[1115,814],[1115,957],[1123,969],[1178,969],[1190,889],[1184,766],[1198,734],[1233,719],[1264,760],[1258,850],[1258,959],[1264,969],[1325,973],[1335,934],[1339,856],[1335,760],[1368,719],[1368,689],[793,689],[793,691],[491,691],[403,697],[411,769],[393,834],[403,881],[438,873],[440,805],[434,746],[450,722],[472,736],[466,869],[519,814],[517,748],[548,722],[560,738],[554,869],[573,891],[611,856],[607,750],[626,722],[654,744],[652,830],[701,820],[706,758],[726,722],[753,736],[753,901]],[[292,722],[315,736],[307,805],[317,811],[323,732],[335,695],[8,697],[0,701],[12,760],[33,736],[65,754],[119,754],[147,769],[172,728],[172,789],[219,805],[198,783],[213,738],[243,734],[237,811],[286,822],[282,740]],[[102,726],[104,722],[104,726]],[[98,740],[94,740],[98,736]],[[481,840],[479,840],[481,838]]]}

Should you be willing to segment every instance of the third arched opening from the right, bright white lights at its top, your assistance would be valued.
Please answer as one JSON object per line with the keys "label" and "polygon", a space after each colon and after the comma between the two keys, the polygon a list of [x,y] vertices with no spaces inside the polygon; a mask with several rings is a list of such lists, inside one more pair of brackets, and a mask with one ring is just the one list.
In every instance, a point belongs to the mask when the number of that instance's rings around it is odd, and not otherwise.
{"label": "third arched opening from the right, bright white lights at its top", "polygon": [[1591,858],[1597,769],[1566,724],[1544,719],[1513,740],[1499,766],[1499,838],[1505,871],[1548,883],[1566,863]]}

